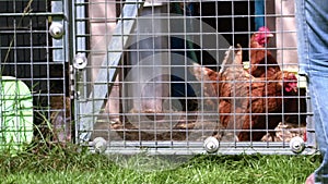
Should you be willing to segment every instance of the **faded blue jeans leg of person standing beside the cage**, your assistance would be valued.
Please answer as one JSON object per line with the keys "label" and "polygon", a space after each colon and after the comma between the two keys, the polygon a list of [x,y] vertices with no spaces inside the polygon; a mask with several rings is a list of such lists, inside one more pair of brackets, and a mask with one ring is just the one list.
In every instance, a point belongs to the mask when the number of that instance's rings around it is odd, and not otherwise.
{"label": "faded blue jeans leg of person standing beside the cage", "polygon": [[316,140],[324,157],[316,183],[328,183],[328,3],[295,0],[300,72],[308,78]]}

